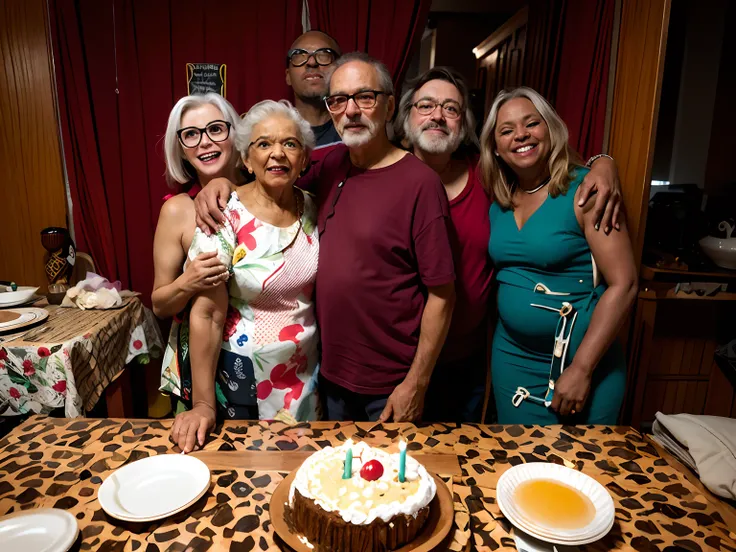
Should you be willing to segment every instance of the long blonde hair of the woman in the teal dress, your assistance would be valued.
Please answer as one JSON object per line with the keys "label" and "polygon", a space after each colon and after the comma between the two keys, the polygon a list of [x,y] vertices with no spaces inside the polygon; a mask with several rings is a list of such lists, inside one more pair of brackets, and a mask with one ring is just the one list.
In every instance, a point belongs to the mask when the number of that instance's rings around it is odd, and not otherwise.
{"label": "long blonde hair of the woman in the teal dress", "polygon": [[493,101],[483,132],[480,135],[480,169],[483,185],[494,201],[504,209],[511,209],[513,204],[516,175],[511,168],[497,157],[496,124],[498,111],[506,102],[518,98],[526,98],[537,109],[549,130],[551,151],[547,164],[549,166],[549,195],[557,197],[567,193],[572,181],[571,171],[583,165],[580,156],[568,144],[568,132],[565,122],[560,118],[550,103],[539,92],[526,86],[499,92]]}

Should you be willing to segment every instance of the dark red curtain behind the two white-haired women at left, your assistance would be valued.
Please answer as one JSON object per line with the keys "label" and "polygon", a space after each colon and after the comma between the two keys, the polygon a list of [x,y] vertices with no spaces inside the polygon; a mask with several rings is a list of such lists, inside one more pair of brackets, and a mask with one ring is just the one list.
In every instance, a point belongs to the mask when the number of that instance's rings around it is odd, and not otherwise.
{"label": "dark red curtain behind the two white-haired women at left", "polygon": [[169,191],[163,135],[186,63],[227,64],[239,112],[288,97],[284,56],[301,0],[51,0],[62,138],[77,247],[150,298],[153,234]]}

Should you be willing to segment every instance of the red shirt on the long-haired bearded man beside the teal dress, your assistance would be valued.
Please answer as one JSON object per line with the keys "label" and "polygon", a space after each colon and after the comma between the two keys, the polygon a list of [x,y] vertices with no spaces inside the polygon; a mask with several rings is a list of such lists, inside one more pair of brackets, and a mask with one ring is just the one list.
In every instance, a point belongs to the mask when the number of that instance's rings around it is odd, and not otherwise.
{"label": "red shirt on the long-haired bearded man beside the teal dress", "polygon": [[485,349],[493,267],[488,256],[491,200],[483,189],[477,157],[468,159],[468,183],[450,201],[450,244],[455,261],[455,310],[440,362]]}

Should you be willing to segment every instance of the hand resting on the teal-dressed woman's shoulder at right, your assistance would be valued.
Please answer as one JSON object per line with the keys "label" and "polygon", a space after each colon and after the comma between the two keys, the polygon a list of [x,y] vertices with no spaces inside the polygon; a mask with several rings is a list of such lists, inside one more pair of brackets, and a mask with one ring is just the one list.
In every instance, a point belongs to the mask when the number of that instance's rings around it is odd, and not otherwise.
{"label": "hand resting on the teal-dressed woman's shoulder at right", "polygon": [[619,217],[621,216],[621,205],[623,196],[621,194],[621,182],[618,179],[616,163],[610,159],[598,159],[585,175],[580,185],[579,206],[585,205],[591,196],[595,194],[595,207],[593,214],[597,221],[595,229],[601,227],[608,234],[611,228],[621,229]]}

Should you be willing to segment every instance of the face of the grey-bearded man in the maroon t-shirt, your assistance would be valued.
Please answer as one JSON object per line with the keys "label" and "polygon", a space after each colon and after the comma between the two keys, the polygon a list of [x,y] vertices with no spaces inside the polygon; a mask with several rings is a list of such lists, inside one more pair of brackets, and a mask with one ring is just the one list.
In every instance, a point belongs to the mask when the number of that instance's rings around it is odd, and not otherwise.
{"label": "face of the grey-bearded man in the maroon t-shirt", "polygon": [[[330,95],[347,94],[367,90],[381,91],[378,71],[370,63],[350,61],[340,66],[330,80]],[[394,112],[394,97],[376,96],[376,105],[361,109],[354,100],[348,100],[345,111],[331,113],[335,128],[343,143],[349,148],[369,144],[381,132]]]}

